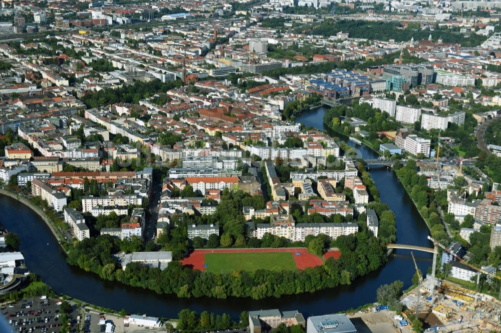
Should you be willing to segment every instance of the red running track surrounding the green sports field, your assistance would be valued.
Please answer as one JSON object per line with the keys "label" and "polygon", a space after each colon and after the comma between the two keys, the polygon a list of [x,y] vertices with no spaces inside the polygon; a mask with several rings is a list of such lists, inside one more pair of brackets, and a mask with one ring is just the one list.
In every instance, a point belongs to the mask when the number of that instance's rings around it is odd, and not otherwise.
{"label": "red running track surrounding the green sports field", "polygon": [[[286,247],[286,248],[214,248],[214,249],[195,249],[187,257],[181,260],[184,266],[190,266],[193,269],[204,270],[205,253],[237,253],[237,252],[292,252],[294,262],[298,269],[306,267],[315,267],[321,265],[324,261],[322,258],[312,254],[304,247]],[[296,255],[301,253],[301,255]],[[341,252],[328,251],[324,254],[327,259],[329,257],[339,258]]]}

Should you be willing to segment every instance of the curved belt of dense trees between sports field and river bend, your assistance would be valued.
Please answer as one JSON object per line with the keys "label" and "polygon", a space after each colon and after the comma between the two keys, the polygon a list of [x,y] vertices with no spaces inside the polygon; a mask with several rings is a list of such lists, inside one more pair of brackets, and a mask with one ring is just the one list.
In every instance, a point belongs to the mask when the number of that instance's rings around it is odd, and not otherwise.
{"label": "curved belt of dense trees between sports field and river bend", "polygon": [[109,235],[84,239],[70,248],[67,261],[110,281],[148,288],[157,293],[175,293],[179,297],[262,299],[350,284],[357,276],[377,269],[386,260],[384,248],[376,237],[370,231],[362,230],[339,236],[331,243],[341,250],[339,259],[329,258],[323,265],[305,270],[211,273],[172,261],[164,270],[132,262],[122,271],[117,268],[113,257],[113,253],[119,250],[119,242]]}

